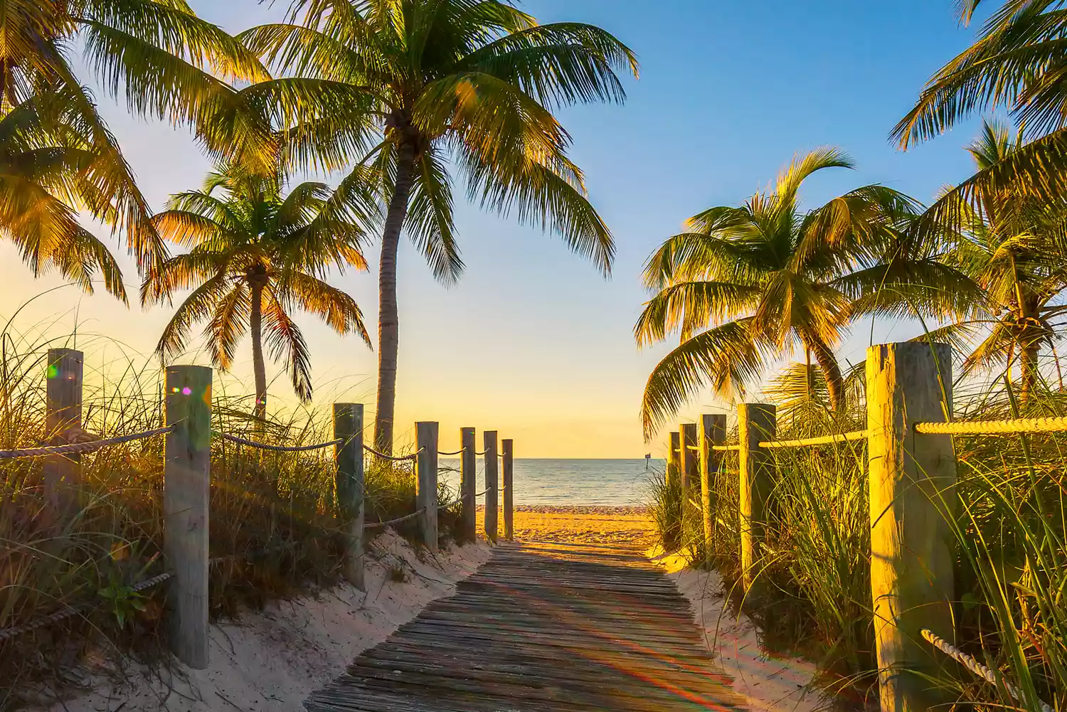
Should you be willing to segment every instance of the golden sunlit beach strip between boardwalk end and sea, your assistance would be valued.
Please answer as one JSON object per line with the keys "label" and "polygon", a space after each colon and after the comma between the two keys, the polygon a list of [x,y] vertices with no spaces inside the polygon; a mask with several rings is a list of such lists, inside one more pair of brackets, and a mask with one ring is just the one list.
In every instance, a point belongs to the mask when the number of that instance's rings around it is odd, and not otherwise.
{"label": "golden sunlit beach strip between boardwalk end and sea", "polygon": [[[504,534],[504,512],[498,515]],[[593,544],[653,543],[652,523],[644,507],[526,505],[514,510],[517,541],[560,541]],[[478,532],[484,532],[484,510],[478,507]]]}

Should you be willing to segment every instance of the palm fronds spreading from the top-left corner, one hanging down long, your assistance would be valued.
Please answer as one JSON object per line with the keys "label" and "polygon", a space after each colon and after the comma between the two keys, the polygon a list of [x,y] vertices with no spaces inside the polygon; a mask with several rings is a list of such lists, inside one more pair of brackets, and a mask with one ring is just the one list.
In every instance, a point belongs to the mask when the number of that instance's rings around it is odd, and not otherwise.
{"label": "palm fronds spreading from the top-left corner, one hanging down long", "polygon": [[195,125],[205,145],[220,152],[225,139],[239,136],[233,116],[224,115],[224,99],[235,94],[224,80],[269,76],[254,54],[196,17],[185,0],[4,0],[0,12],[0,108],[62,92],[98,162],[110,162],[109,179],[98,185],[113,205],[109,222],[125,231],[139,264],[150,267],[165,254],[163,243],[118,144],[73,68],[73,49],[83,44],[106,90],[122,93],[132,112]]}

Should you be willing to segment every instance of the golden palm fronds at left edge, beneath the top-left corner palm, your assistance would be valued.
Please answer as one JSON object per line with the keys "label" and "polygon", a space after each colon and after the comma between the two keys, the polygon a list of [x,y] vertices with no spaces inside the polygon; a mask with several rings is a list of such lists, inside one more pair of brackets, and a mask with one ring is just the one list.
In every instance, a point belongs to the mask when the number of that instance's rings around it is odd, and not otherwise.
{"label": "golden palm fronds at left edge, beneath the top-left corner palm", "polygon": [[77,215],[111,216],[117,207],[109,186],[124,176],[95,151],[92,127],[70,94],[44,92],[0,115],[0,235],[35,275],[55,269],[92,292],[99,272],[105,288],[125,302],[117,263]]}

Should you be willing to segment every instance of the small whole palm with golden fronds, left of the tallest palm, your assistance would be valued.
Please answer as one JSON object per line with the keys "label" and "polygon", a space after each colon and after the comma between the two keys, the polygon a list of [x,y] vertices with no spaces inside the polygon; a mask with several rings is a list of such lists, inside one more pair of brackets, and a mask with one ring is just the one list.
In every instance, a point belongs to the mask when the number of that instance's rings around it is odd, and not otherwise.
{"label": "small whole palm with golden fronds, left of the tallest palm", "polygon": [[324,281],[332,268],[367,268],[361,242],[370,215],[361,197],[362,180],[335,190],[308,181],[283,194],[281,177],[227,165],[209,174],[201,190],[173,195],[153,223],[189,252],[150,272],[141,297],[160,303],[170,302],[177,290],[192,292],[160,336],[160,358],[165,362],[180,353],[190,328],[207,320],[211,362],[226,369],[241,337],[251,332],[255,415],[261,418],[267,409],[266,334],[271,358],[284,362],[297,396],[309,400],[310,357],[291,317],[294,310],[370,343],[355,301]]}

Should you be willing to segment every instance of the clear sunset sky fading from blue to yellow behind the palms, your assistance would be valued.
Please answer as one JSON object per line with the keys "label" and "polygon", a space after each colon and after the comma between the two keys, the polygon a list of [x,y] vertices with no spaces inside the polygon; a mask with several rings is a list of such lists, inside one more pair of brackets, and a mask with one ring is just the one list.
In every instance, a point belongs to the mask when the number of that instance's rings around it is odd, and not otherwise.
{"label": "clear sunset sky fading from blue to yellow behind the palms", "polygon": [[[191,0],[205,18],[237,32],[273,21],[281,2]],[[461,426],[513,438],[516,457],[630,458],[665,450],[642,439],[641,392],[666,344],[637,349],[633,326],[648,299],[640,284],[647,256],[683,221],[714,205],[736,205],[765,187],[797,152],[835,145],[855,171],[824,172],[801,193],[815,206],[860,185],[879,183],[929,201],[962,179],[961,149],[976,121],[903,153],[890,129],[928,77],[965,49],[973,29],[956,22],[951,0],[527,0],[539,21],[599,25],[632,47],[639,80],[626,79],[625,106],[558,112],[574,139],[572,158],[586,173],[590,199],[615,235],[617,258],[605,280],[562,241],[463,202],[457,224],[466,272],[453,287],[436,283],[410,243],[399,258],[399,438],[415,421],[439,421],[442,449],[458,447]],[[90,72],[82,79],[96,85]],[[189,132],[136,120],[100,96],[142,190],[155,208],[201,183],[209,169]],[[376,248],[368,252],[373,264]],[[126,270],[136,294],[136,273]],[[28,299],[62,285],[34,280],[11,246],[0,246],[3,298],[11,317]],[[349,272],[348,290],[377,331],[377,274]],[[87,367],[147,363],[166,310],[129,308],[105,295],[59,288],[19,312],[13,329],[61,337],[77,330]],[[377,355],[354,336],[339,337],[314,318],[300,320],[316,382],[313,408],[334,400],[372,408]],[[842,358],[862,360],[872,343],[915,334],[911,323],[857,325]],[[676,343],[676,342],[675,342]],[[198,346],[198,342],[195,344]],[[251,346],[226,382],[251,391]],[[207,363],[191,349],[181,362]],[[95,365],[94,365],[95,364]],[[271,366],[271,394],[291,398]],[[703,393],[679,414],[722,412]],[[479,436],[480,438],[480,436]]]}

